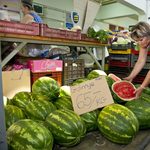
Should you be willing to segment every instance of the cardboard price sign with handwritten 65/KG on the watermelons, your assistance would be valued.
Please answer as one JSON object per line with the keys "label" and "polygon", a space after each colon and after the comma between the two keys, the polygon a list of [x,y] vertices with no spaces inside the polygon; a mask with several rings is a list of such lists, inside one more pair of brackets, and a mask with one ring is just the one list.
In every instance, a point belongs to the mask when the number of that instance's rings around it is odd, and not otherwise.
{"label": "cardboard price sign with handwritten 65/KG on the watermelons", "polygon": [[105,76],[71,86],[70,92],[78,115],[114,103]]}

